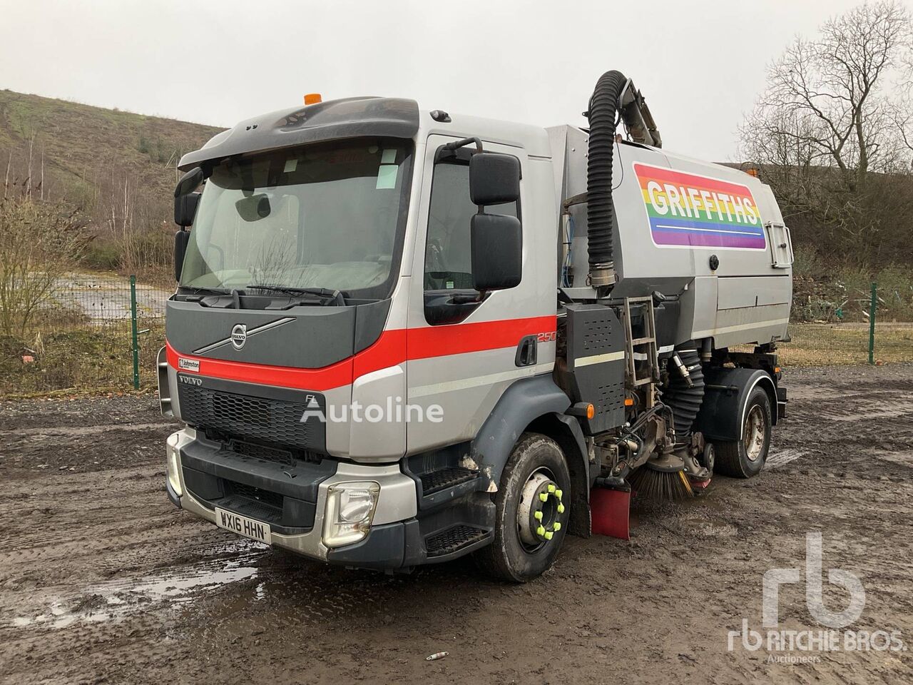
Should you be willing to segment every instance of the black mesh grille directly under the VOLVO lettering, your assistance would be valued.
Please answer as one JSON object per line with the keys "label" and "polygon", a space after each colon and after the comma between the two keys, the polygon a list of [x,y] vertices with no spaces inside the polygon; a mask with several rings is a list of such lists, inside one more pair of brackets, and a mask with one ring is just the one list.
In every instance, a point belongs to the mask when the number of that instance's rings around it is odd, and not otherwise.
{"label": "black mesh grille directly under the VOLVO lettering", "polygon": [[305,405],[297,402],[236,395],[198,385],[180,385],[181,417],[192,426],[253,437],[289,447],[317,447],[323,427],[317,419],[303,423]]}

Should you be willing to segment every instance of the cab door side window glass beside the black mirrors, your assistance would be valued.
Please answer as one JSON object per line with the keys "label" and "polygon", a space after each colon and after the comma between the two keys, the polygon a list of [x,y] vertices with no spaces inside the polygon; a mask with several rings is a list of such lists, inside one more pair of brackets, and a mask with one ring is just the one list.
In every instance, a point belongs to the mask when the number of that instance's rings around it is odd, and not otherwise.
{"label": "cab door side window glass beside the black mirrors", "polygon": [[[490,205],[489,214],[518,216],[518,203]],[[472,288],[472,258],[469,221],[478,207],[469,199],[469,164],[463,161],[436,163],[428,208],[425,241],[425,293],[440,296],[475,292]],[[427,300],[427,298],[425,298]],[[429,322],[431,318],[428,318]]]}

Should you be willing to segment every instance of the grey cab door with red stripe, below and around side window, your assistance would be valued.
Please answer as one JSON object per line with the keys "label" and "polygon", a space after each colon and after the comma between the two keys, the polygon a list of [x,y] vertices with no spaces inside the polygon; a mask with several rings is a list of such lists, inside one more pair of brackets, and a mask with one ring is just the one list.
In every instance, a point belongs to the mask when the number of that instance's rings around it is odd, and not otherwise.
{"label": "grey cab door with red stripe, below and around side window", "polygon": [[530,226],[523,217],[530,160],[522,148],[484,143],[486,152],[510,154],[520,162],[519,202],[490,205],[485,211],[520,219],[523,266],[518,286],[480,298],[472,287],[469,231],[470,219],[478,211],[469,197],[469,156],[474,148],[443,151],[453,140],[431,135],[425,148],[407,314],[411,454],[473,439],[511,383],[550,373],[554,362],[555,304],[541,296],[533,273],[536,264],[530,258]]}

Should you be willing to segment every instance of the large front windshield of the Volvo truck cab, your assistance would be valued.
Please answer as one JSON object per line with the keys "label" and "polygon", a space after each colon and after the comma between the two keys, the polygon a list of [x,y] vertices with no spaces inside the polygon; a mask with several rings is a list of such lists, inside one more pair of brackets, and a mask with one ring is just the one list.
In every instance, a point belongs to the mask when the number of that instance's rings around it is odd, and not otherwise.
{"label": "large front windshield of the Volvo truck cab", "polygon": [[359,139],[219,164],[200,198],[181,285],[389,296],[411,160],[412,142]]}

